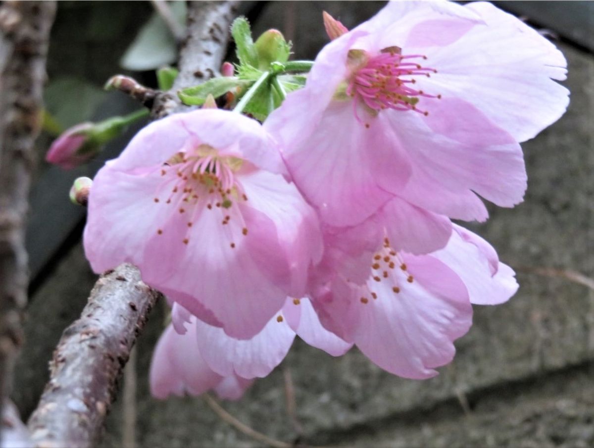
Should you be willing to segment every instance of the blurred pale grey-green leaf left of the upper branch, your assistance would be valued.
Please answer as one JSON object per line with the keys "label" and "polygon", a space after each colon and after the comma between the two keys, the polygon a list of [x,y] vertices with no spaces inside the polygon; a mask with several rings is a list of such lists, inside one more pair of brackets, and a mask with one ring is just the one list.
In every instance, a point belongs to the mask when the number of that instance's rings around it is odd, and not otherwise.
{"label": "blurred pale grey-green leaf left of the upper branch", "polygon": [[[169,2],[168,6],[173,17],[185,26],[185,2]],[[173,64],[177,56],[175,38],[161,16],[155,12],[122,56],[120,65],[127,70],[156,70],[162,65]]]}

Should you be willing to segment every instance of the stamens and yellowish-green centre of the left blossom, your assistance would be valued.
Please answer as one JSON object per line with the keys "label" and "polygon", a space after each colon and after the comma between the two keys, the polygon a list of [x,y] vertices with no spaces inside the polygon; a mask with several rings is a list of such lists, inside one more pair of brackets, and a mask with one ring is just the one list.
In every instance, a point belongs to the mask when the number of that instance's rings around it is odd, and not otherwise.
{"label": "stamens and yellowish-green centre of the left blossom", "polygon": [[[198,213],[204,209],[219,209],[223,226],[228,225],[231,219],[238,219],[242,234],[248,234],[242,214],[236,207],[239,201],[248,200],[236,179],[236,173],[243,165],[244,160],[220,156],[216,149],[206,144],[186,152],[178,152],[163,164],[163,183],[157,191],[167,194],[166,205],[176,207],[179,214],[188,216],[188,231],[182,239],[184,244],[188,244],[189,229]],[[154,203],[161,202],[158,195],[154,197]],[[163,229],[157,229],[157,234],[162,235]],[[229,236],[230,247],[235,248],[233,232],[229,232]]]}

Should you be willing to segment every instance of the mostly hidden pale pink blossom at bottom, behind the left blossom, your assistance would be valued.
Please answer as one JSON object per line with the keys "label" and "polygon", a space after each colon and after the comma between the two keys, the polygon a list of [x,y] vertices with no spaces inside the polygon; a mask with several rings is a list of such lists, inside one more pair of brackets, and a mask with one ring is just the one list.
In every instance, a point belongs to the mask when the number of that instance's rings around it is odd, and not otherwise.
{"label": "mostly hidden pale pink blossom at bottom, behind the left blossom", "polygon": [[237,399],[254,378],[266,377],[280,364],[295,335],[333,356],[352,346],[321,326],[307,298],[287,298],[277,316],[248,340],[183,314],[173,310],[172,325],[153,355],[151,393],[159,398],[214,389],[222,397]]}

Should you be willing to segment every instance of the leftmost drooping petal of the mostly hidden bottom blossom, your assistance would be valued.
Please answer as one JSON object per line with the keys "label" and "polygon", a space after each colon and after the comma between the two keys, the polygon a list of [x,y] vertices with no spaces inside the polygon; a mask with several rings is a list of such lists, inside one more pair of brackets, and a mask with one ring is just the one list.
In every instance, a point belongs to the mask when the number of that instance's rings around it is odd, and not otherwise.
{"label": "leftmost drooping petal of the mostly hidden bottom blossom", "polygon": [[153,354],[150,367],[151,394],[165,399],[169,395],[182,396],[185,392],[200,395],[219,384],[222,377],[204,362],[196,343],[195,325],[188,326],[185,335],[179,335],[169,325]]}

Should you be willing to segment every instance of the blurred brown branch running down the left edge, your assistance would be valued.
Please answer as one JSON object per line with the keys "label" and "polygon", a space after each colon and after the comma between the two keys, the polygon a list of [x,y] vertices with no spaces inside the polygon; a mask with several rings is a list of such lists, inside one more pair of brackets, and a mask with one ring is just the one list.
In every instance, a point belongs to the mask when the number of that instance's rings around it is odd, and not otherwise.
{"label": "blurred brown branch running down the left edge", "polygon": [[0,7],[0,406],[22,341],[27,197],[54,12],[55,2],[6,1]]}

